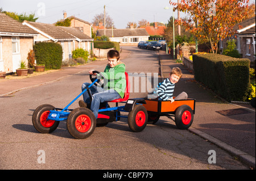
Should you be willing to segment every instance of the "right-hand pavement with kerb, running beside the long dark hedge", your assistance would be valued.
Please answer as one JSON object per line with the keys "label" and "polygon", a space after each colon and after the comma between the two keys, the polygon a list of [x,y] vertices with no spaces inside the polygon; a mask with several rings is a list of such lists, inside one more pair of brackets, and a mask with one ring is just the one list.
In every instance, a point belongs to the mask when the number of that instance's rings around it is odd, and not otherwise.
{"label": "right-hand pavement with kerb, running beside the long dark hedge", "polygon": [[176,83],[175,91],[177,94],[185,91],[189,98],[196,99],[194,121],[188,130],[255,169],[255,108],[246,103],[226,102],[196,82],[191,70],[176,63],[170,54],[162,50],[159,50],[159,64],[162,79],[169,77],[172,68],[179,67],[183,76]]}

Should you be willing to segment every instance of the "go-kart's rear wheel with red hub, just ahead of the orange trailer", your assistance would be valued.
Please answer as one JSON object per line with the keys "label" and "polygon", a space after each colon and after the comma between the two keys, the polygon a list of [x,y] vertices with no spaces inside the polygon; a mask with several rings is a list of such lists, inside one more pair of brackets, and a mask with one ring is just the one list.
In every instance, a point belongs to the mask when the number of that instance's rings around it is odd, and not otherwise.
{"label": "go-kart's rear wheel with red hub, just ahead of the orange trailer", "polygon": [[147,110],[142,105],[134,106],[128,114],[128,124],[132,131],[141,132],[147,125]]}

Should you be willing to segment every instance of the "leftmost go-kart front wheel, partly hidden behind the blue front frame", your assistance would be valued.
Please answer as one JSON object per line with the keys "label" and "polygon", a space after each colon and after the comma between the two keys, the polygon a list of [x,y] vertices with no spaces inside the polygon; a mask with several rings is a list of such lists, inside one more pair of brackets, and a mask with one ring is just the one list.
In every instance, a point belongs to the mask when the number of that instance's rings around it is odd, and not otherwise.
{"label": "leftmost go-kart front wheel, partly hidden behind the blue front frame", "polygon": [[37,107],[32,115],[32,123],[40,133],[51,133],[59,126],[60,121],[47,120],[50,110],[54,110],[50,104]]}

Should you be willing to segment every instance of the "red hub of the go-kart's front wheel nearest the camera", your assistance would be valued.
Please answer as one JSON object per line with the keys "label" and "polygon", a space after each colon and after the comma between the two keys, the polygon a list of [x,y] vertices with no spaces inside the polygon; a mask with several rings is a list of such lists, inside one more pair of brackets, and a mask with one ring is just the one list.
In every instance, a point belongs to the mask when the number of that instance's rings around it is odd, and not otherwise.
{"label": "red hub of the go-kart's front wheel nearest the camera", "polygon": [[87,132],[90,129],[91,125],[92,121],[90,120],[90,117],[87,115],[80,115],[77,117],[75,121],[76,129],[81,133]]}

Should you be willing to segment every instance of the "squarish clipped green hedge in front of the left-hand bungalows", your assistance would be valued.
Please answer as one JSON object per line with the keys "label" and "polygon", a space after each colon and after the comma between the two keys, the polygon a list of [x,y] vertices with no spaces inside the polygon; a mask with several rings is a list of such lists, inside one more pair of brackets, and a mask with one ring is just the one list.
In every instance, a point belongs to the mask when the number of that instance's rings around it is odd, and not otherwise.
{"label": "squarish clipped green hedge in front of the left-hand bungalows", "polygon": [[40,42],[34,45],[36,64],[44,64],[46,69],[60,69],[62,63],[62,47],[52,42]]}

